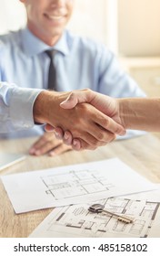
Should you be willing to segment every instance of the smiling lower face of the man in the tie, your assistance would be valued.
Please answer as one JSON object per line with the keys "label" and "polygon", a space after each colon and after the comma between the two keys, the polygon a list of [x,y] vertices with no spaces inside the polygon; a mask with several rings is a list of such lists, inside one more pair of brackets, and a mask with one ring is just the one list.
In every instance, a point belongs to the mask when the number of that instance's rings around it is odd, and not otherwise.
{"label": "smiling lower face of the man in the tie", "polygon": [[47,45],[55,45],[72,15],[74,0],[20,1],[25,4],[31,32]]}

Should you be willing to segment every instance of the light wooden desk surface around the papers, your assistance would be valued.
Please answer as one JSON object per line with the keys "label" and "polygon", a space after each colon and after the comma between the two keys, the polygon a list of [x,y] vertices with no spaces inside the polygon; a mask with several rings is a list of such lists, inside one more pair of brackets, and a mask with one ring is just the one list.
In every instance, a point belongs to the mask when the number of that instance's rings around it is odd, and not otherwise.
{"label": "light wooden desk surface around the papers", "polygon": [[[35,141],[33,139],[0,141],[0,152],[24,153]],[[160,183],[160,133],[116,141],[95,151],[69,152],[64,155],[30,156],[25,161],[6,168],[1,175],[34,171],[61,165],[74,165],[84,162],[100,161],[119,157],[126,165],[155,183]],[[16,215],[0,181],[0,237],[27,237],[35,227],[51,212],[42,209]]]}

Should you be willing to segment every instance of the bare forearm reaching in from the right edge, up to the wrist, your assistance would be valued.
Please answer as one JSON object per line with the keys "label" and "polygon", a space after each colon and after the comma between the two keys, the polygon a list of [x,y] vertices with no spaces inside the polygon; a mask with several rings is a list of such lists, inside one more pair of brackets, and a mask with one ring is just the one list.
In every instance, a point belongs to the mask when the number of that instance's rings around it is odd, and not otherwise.
{"label": "bare forearm reaching in from the right edge, up to the wrist", "polygon": [[117,99],[125,129],[160,132],[160,98]]}

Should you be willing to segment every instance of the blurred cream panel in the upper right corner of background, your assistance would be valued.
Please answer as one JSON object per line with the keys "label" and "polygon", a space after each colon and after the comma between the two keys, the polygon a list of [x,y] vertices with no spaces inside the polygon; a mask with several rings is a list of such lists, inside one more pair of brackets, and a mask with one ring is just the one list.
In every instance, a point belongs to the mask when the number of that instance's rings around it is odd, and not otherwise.
{"label": "blurred cream panel in the upper right corner of background", "polygon": [[118,49],[125,56],[160,56],[160,0],[118,1]]}

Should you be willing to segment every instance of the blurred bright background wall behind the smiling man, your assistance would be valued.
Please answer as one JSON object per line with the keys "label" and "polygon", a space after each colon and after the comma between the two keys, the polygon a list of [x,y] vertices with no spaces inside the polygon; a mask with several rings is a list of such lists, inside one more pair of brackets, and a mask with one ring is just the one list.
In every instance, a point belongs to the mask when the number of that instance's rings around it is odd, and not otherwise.
{"label": "blurred bright background wall behind the smiling man", "polygon": [[[19,0],[0,0],[0,34],[25,21]],[[160,96],[160,0],[75,0],[68,27],[105,43],[148,95]]]}

